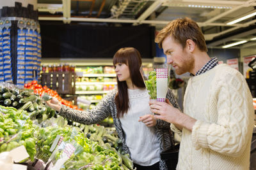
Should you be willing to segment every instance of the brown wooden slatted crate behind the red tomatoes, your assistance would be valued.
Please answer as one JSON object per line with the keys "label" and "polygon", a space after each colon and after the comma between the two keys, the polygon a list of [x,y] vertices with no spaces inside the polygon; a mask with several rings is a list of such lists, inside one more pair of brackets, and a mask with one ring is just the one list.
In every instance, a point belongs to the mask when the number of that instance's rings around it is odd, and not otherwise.
{"label": "brown wooden slatted crate behind the red tomatoes", "polygon": [[76,94],[76,73],[72,72],[53,72],[42,73],[41,84],[46,85],[58,94]]}

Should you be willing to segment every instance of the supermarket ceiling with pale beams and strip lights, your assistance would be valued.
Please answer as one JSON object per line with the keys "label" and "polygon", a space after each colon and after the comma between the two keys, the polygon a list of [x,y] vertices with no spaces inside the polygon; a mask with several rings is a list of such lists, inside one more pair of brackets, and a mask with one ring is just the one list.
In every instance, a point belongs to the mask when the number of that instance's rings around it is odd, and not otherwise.
{"label": "supermarket ceiling with pale beams and strip lights", "polygon": [[[256,48],[256,0],[37,0],[39,20],[84,24],[148,24],[160,30],[189,17],[200,25],[207,46]],[[235,22],[235,20],[237,20]]]}

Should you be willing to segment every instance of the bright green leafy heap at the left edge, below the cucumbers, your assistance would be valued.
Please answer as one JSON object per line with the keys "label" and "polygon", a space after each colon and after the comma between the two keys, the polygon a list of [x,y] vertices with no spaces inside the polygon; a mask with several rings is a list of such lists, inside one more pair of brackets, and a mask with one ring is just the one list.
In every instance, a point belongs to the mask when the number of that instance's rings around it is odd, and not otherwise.
{"label": "bright green leafy heap at the left edge, below the cucumbers", "polygon": [[0,106],[0,152],[10,151],[24,145],[30,159],[36,154],[36,125],[29,119],[27,111]]}

